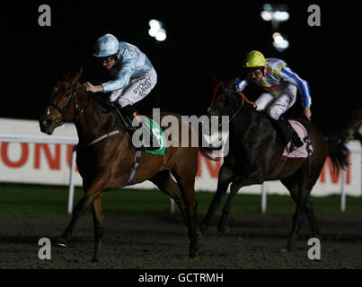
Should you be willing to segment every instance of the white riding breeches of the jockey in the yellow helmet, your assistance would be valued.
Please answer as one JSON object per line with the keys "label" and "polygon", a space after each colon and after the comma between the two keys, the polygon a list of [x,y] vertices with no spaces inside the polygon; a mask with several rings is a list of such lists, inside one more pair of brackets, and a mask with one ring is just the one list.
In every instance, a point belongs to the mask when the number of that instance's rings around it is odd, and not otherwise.
{"label": "white riding breeches of the jockey in the yellow helmet", "polygon": [[278,94],[265,92],[255,101],[257,110],[265,110],[269,117],[277,119],[296,102],[297,88],[293,84],[287,84],[278,89]]}

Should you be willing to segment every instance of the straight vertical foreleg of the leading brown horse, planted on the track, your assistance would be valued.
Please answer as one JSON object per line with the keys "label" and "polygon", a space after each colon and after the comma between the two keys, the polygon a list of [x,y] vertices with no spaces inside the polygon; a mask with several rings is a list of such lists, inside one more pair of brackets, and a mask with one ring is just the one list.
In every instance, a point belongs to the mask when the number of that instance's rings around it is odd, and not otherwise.
{"label": "straight vertical foreleg of the leading brown horse, planted on the track", "polygon": [[94,256],[93,261],[99,261],[103,228],[103,207],[102,195],[98,196],[92,204],[93,223],[94,223]]}

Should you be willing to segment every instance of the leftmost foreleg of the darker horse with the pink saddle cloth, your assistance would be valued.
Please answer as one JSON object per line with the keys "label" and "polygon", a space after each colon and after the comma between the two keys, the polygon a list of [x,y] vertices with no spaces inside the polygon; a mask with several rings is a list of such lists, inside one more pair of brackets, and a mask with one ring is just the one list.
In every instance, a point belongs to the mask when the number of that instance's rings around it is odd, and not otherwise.
{"label": "leftmost foreleg of the darker horse with the pink saddle cloth", "polygon": [[219,177],[217,180],[216,194],[215,194],[214,198],[212,199],[210,205],[208,206],[207,214],[201,223],[201,226],[200,226],[201,232],[207,231],[208,224],[210,223],[212,217],[216,213],[217,207],[221,204],[221,201],[223,200],[223,197],[225,196],[227,187],[229,187],[229,184],[232,181],[233,176],[234,176],[234,173],[231,169],[224,167],[224,166],[221,168]]}

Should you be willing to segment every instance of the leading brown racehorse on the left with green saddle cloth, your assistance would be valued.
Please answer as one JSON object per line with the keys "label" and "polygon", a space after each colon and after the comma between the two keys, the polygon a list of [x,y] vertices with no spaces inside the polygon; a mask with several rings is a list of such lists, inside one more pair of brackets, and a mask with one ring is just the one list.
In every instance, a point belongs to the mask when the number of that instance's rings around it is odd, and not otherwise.
{"label": "leading brown racehorse on the left with green saddle cloth", "polygon": [[[40,129],[43,133],[52,135],[54,129],[64,122],[75,123],[79,137],[76,165],[83,178],[84,196],[75,205],[72,220],[57,244],[66,246],[79,216],[92,205],[95,237],[93,261],[98,261],[104,232],[102,195],[106,190],[125,186],[137,151],[131,137],[125,132],[125,126],[119,120],[117,111],[104,106],[102,100],[85,91],[83,85],[78,82],[82,73],[81,68],[65,80],[57,82],[46,112],[40,117]],[[178,118],[178,128],[185,124],[177,114],[161,113],[161,119],[168,115]],[[193,133],[189,123],[186,125],[189,132]],[[113,131],[114,135],[107,135]],[[180,144],[177,146],[181,146],[181,132],[178,135],[180,138],[176,141],[179,140]],[[191,147],[191,144],[190,147],[173,147],[170,146],[169,140],[167,138],[168,148],[165,154],[142,152],[136,176],[128,185],[150,180],[172,197],[179,205],[183,220],[189,229],[190,257],[195,257],[198,239],[194,184],[199,149]],[[172,138],[172,143],[174,140]],[[177,183],[172,179],[172,175]]]}

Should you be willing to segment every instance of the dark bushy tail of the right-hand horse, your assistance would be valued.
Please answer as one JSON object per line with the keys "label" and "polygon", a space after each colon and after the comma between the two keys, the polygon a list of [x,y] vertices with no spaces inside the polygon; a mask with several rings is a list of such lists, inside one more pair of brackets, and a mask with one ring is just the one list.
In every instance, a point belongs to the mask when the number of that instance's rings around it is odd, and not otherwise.
{"label": "dark bushy tail of the right-hand horse", "polygon": [[328,143],[328,155],[331,158],[331,163],[333,165],[333,172],[340,172],[340,167],[343,170],[346,170],[349,165],[349,148],[346,146],[346,143],[342,137],[336,135],[330,135],[327,137]]}

